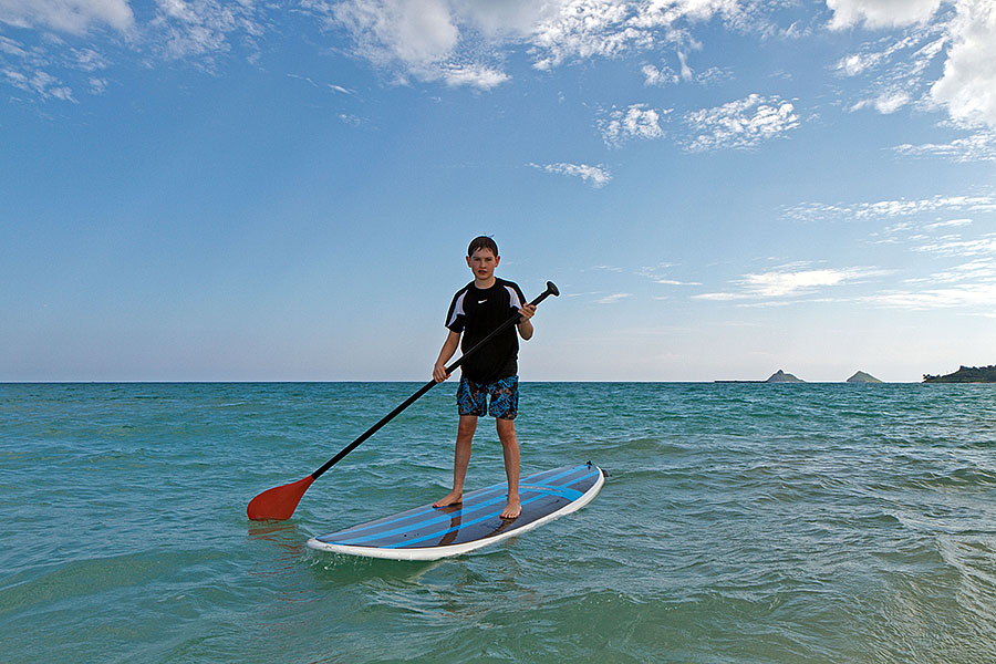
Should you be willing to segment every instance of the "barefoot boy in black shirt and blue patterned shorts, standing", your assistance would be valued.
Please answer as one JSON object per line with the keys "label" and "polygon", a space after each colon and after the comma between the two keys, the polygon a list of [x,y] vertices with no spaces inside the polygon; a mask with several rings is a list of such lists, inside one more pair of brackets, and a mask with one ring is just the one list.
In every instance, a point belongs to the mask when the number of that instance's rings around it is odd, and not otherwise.
{"label": "barefoot boy in black shirt and blue patterned shorts, standing", "polygon": [[[460,345],[461,335],[461,347],[466,351],[518,312],[520,318],[515,326],[519,336],[523,341],[532,338],[529,319],[536,313],[536,307],[526,302],[518,286],[495,277],[495,268],[500,260],[498,245],[489,237],[475,238],[467,248],[467,267],[474,272],[474,281],[457,291],[449,304],[446,315],[449,335],[433,367],[433,378],[437,383],[449,377],[446,363]],[[498,427],[505,475],[508,477],[508,504],[501,518],[515,519],[522,511],[519,502],[519,443],[515,424],[519,405],[516,363],[519,341],[516,330],[508,328],[460,365],[460,385],[457,388],[460,418],[453,463],[453,491],[434,502],[433,507],[458,505],[463,500],[464,478],[470,463],[470,444],[477,429],[477,418],[487,413],[495,417]]]}

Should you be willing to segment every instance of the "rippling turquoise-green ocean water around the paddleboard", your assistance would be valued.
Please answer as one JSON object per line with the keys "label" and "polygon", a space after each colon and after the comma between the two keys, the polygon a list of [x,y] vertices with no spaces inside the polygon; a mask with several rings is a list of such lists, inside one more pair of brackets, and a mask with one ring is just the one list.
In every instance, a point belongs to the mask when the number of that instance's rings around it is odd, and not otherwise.
{"label": "rippling turquoise-green ocean water around the paddleboard", "polygon": [[[996,388],[522,385],[579,512],[436,562],[304,541],[448,490],[455,384],[0,385],[0,662],[996,662]],[[468,488],[504,478],[481,421]]]}

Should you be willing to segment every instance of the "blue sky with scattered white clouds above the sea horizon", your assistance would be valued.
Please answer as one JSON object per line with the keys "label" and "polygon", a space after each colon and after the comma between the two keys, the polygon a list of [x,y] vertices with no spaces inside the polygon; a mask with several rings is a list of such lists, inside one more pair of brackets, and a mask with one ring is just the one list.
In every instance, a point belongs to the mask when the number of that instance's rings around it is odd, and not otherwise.
{"label": "blue sky with scattered white clouds above the sea horizon", "polygon": [[996,0],[0,0],[0,381],[996,363]]}

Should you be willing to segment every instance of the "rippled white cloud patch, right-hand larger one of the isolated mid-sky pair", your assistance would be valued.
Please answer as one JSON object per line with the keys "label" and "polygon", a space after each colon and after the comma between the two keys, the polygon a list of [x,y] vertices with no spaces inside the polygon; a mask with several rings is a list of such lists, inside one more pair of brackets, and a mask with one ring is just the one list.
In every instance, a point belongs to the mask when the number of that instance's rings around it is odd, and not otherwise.
{"label": "rippled white cloud patch, right-hand larger one of the isolated mid-sky pair", "polygon": [[791,102],[751,94],[715,108],[688,113],[685,122],[696,136],[692,152],[720,148],[749,148],[799,126]]}

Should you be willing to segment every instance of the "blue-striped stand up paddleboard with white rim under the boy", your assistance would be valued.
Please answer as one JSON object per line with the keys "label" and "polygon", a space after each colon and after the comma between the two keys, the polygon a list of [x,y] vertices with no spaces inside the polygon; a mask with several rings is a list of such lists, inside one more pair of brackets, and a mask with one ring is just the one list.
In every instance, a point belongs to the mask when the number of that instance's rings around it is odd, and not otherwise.
{"label": "blue-striped stand up paddleboard with white rim under the boy", "polygon": [[598,495],[605,475],[589,461],[519,480],[522,513],[501,519],[508,485],[464,494],[460,505],[426,505],[308,540],[320,551],[392,560],[437,560],[494,544],[581,509]]}

